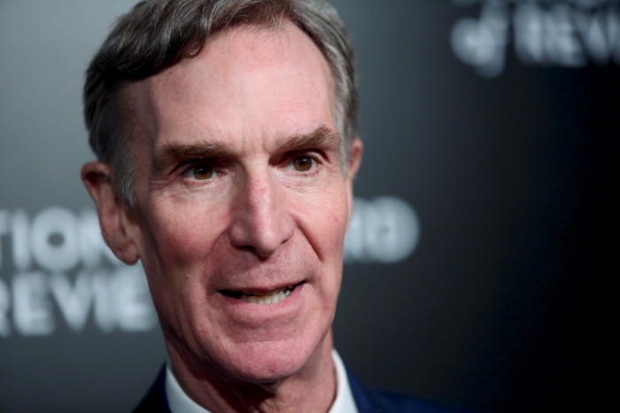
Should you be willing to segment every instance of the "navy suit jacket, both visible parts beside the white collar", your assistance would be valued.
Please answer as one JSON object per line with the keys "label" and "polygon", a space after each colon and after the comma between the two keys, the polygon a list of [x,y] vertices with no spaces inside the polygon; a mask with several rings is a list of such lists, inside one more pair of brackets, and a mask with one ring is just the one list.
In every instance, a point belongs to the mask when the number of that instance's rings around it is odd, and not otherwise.
{"label": "navy suit jacket, both visible parts beside the white collar", "polygon": [[[362,385],[349,370],[346,371],[346,375],[349,378],[349,386],[351,386],[351,393],[353,393],[359,413],[466,413],[469,411],[456,409],[438,401],[379,392]],[[134,413],[171,413],[166,397],[166,368],[159,371],[157,380]]]}

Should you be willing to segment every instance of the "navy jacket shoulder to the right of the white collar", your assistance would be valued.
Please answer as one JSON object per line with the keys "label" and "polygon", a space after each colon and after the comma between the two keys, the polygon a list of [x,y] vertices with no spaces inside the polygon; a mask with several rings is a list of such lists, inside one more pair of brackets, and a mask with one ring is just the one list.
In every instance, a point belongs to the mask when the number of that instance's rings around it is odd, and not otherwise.
{"label": "navy jacket shoulder to the right of the white collar", "polygon": [[469,413],[438,401],[382,392],[362,385],[347,371],[349,386],[359,413]]}

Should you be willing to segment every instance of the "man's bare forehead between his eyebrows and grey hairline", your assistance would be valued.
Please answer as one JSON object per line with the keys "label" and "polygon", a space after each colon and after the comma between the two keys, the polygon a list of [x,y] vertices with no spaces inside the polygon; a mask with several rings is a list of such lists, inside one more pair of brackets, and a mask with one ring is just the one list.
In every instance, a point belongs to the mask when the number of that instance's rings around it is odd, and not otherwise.
{"label": "man's bare forehead between his eyebrows and grey hairline", "polygon": [[161,136],[248,141],[335,124],[327,61],[290,22],[278,29],[242,26],[214,35],[195,58],[131,85],[128,92],[139,128],[156,146]]}

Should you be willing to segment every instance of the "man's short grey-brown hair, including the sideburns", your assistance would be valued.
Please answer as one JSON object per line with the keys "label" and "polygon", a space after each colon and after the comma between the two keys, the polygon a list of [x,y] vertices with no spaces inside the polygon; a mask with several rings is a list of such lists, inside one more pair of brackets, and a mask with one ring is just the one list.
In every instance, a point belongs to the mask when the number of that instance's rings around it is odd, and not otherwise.
{"label": "man's short grey-brown hair, including the sideburns", "polygon": [[[90,62],[83,91],[89,144],[112,170],[120,200],[135,207],[135,162],[130,150],[123,85],[146,79],[182,58],[198,55],[207,38],[240,25],[281,27],[288,19],[326,58],[336,94],[336,124],[343,161],[357,135],[357,86],[353,49],[336,10],[324,0],[150,0],[121,16]],[[345,164],[345,162],[343,162]],[[343,165],[343,168],[345,166]]]}

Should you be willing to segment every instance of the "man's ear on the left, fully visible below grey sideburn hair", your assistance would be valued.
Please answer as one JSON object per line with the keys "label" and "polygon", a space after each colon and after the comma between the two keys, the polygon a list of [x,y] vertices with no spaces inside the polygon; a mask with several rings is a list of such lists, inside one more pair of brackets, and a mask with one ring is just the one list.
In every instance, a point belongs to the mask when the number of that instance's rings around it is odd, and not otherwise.
{"label": "man's ear on the left, fully visible below grey sideburn hair", "polygon": [[105,244],[120,261],[135,264],[139,258],[133,237],[135,224],[129,220],[128,208],[112,188],[110,167],[103,162],[89,162],[81,168],[81,181],[95,201]]}

